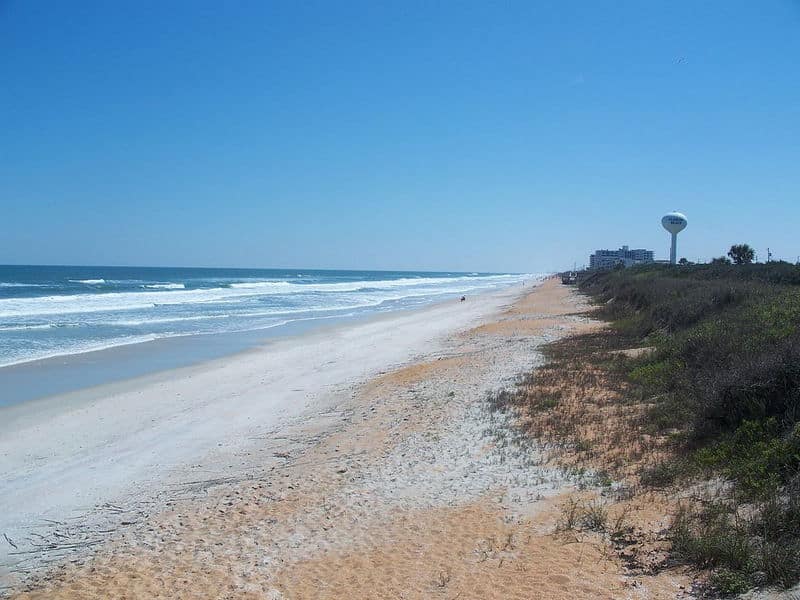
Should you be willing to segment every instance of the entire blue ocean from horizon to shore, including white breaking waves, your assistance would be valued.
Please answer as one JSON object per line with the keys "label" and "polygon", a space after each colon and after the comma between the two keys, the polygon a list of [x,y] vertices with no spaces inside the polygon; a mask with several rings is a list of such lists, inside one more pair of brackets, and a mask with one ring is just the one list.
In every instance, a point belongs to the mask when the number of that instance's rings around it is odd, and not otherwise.
{"label": "entire blue ocean from horizon to shore, including white breaking waves", "polygon": [[0,266],[0,368],[201,334],[290,328],[515,285],[529,274]]}

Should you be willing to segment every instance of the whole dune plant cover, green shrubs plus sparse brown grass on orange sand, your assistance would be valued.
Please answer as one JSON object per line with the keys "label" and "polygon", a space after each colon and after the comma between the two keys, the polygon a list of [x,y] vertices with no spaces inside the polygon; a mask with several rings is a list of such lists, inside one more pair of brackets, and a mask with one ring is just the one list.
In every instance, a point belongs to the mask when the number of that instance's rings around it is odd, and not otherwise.
{"label": "whole dune plant cover, green shrubs plus sparse brown grass on orange sand", "polygon": [[493,405],[568,468],[699,490],[673,519],[665,566],[707,570],[722,594],[795,585],[800,267],[649,265],[583,274],[580,288],[609,326],[550,344]]}

